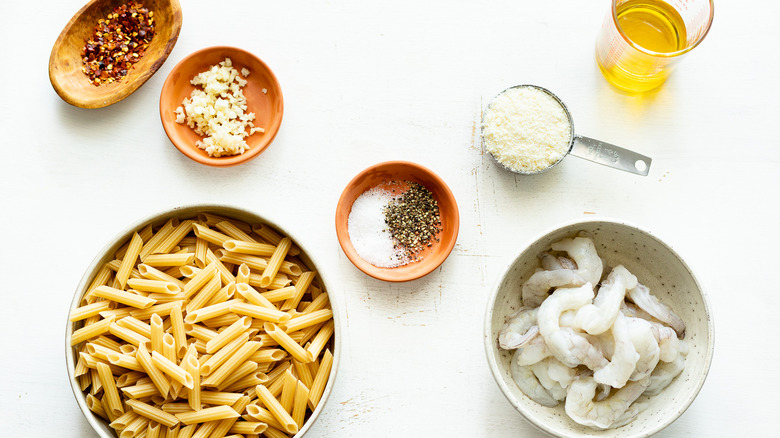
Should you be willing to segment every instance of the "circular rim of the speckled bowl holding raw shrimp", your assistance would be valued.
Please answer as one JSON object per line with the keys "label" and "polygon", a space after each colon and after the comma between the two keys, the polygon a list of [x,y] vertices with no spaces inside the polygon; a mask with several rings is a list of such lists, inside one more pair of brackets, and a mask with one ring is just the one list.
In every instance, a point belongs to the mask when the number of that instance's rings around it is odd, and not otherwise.
{"label": "circular rim of the speckled bowl holding raw shrimp", "polygon": [[[674,257],[676,257],[677,260],[679,260],[679,262],[683,265],[683,267],[691,274],[691,278],[694,284],[696,285],[699,294],[702,297],[702,303],[704,304],[704,313],[707,320],[707,331],[709,336],[707,338],[706,354],[704,355],[703,373],[697,378],[696,385],[693,388],[693,391],[691,392],[691,397],[688,400],[686,400],[685,405],[680,410],[676,411],[674,415],[670,416],[668,419],[656,423],[648,431],[636,435],[631,435],[632,438],[649,437],[663,430],[664,428],[672,424],[675,420],[677,420],[690,407],[690,405],[698,396],[699,392],[701,391],[701,388],[704,386],[704,382],[706,381],[707,376],[709,375],[710,367],[712,365],[712,358],[715,349],[715,328],[712,319],[712,308],[710,306],[709,299],[707,298],[707,293],[702,287],[702,284],[699,281],[698,276],[694,272],[693,268],[691,268],[691,266],[685,261],[685,259],[680,255],[680,253],[677,250],[675,250],[671,245],[669,245],[665,239],[659,237],[656,233],[651,232],[649,229],[643,226],[639,226],[630,221],[625,221],[622,219],[614,219],[614,218],[604,217],[604,216],[596,216],[596,217],[584,218],[584,219],[577,218],[577,219],[572,219],[572,220],[558,223],[555,226],[549,227],[543,230],[542,232],[537,233],[536,235],[534,235],[529,239],[525,239],[524,243],[521,246],[521,250],[514,257],[512,257],[508,263],[504,265],[503,270],[500,271],[501,274],[498,276],[498,278],[496,278],[496,280],[493,283],[493,286],[491,287],[490,295],[488,296],[487,305],[485,309],[485,319],[483,321],[482,337],[483,337],[483,346],[485,348],[485,358],[488,363],[488,368],[490,369],[490,374],[493,376],[493,380],[498,385],[499,389],[501,390],[501,393],[504,395],[507,401],[509,401],[509,403],[515,408],[515,410],[523,416],[523,418],[525,418],[529,423],[531,423],[531,425],[533,425],[537,429],[546,432],[550,435],[560,436],[564,438],[569,436],[568,434],[561,435],[558,433],[558,431],[552,430],[546,424],[537,421],[535,418],[533,418],[530,415],[526,415],[525,408],[523,407],[523,405],[520,403],[515,403],[512,400],[512,397],[509,392],[508,384],[501,377],[499,372],[499,365],[496,361],[496,357],[492,353],[493,347],[496,342],[495,339],[493,339],[493,337],[491,336],[491,330],[492,330],[491,326],[492,326],[493,314],[494,314],[493,311],[495,310],[495,302],[496,302],[496,298],[498,297],[501,284],[504,282],[507,275],[511,272],[512,266],[518,263],[518,261],[520,260],[520,256],[522,256],[523,253],[528,248],[530,248],[533,244],[535,244],[539,240],[547,237],[548,235],[562,228],[568,228],[568,227],[574,227],[576,225],[598,223],[598,222],[632,228],[648,237],[655,239],[663,247],[668,249],[669,252]],[[599,431],[594,429],[592,433],[598,434]]]}

